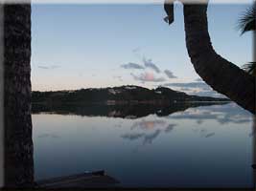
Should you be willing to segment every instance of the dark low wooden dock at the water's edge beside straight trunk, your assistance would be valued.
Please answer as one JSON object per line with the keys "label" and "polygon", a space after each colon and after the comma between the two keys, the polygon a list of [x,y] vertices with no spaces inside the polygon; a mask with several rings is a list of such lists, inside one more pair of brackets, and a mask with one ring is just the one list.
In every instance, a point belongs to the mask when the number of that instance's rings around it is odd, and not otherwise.
{"label": "dark low wooden dock at the water's edge beside straight trunk", "polygon": [[35,182],[36,188],[104,188],[119,187],[120,182],[105,175],[105,171],[81,173]]}

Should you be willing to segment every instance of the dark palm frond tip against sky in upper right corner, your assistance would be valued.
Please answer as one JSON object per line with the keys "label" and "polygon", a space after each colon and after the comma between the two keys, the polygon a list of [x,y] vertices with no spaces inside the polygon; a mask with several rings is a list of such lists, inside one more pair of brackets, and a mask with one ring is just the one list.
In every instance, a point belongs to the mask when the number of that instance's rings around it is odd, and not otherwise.
{"label": "dark palm frond tip against sky in upper right corner", "polygon": [[244,32],[256,30],[255,17],[256,17],[256,3],[254,3],[251,8],[248,8],[246,11],[244,11],[241,18],[238,21],[238,29],[241,31],[241,34],[244,34]]}

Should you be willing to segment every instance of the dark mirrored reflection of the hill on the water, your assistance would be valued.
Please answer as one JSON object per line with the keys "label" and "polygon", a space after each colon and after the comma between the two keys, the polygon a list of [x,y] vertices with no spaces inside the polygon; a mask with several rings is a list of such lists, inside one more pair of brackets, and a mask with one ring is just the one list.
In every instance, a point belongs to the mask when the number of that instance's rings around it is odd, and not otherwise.
{"label": "dark mirrored reflection of the hill on the water", "polygon": [[34,102],[33,114],[61,114],[87,117],[122,117],[138,118],[156,115],[164,117],[176,112],[183,112],[188,108],[197,108],[213,105],[224,105],[230,101],[180,101],[170,104],[126,103],[126,104],[103,104],[81,102]]}

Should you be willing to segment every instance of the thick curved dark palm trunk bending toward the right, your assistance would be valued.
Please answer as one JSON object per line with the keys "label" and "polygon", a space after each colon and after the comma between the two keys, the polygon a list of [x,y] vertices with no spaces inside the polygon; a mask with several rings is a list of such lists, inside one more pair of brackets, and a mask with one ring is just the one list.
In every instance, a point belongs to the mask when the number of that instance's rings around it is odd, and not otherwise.
{"label": "thick curved dark palm trunk bending toward the right", "polygon": [[184,4],[186,45],[194,68],[215,91],[255,114],[255,77],[214,51],[208,32],[207,6],[208,3]]}

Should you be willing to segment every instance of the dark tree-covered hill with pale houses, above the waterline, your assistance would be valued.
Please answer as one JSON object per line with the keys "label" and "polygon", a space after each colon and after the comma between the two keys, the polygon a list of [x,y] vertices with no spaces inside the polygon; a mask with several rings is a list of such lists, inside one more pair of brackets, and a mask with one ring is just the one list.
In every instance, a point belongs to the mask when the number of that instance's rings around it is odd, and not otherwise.
{"label": "dark tree-covered hill with pale houses, above the waterline", "polygon": [[170,88],[147,89],[140,86],[119,86],[113,88],[88,88],[75,91],[51,91],[32,93],[32,103],[40,104],[153,104],[170,105],[175,102],[218,102],[227,98],[211,96],[190,96]]}

